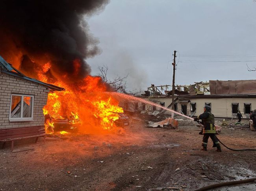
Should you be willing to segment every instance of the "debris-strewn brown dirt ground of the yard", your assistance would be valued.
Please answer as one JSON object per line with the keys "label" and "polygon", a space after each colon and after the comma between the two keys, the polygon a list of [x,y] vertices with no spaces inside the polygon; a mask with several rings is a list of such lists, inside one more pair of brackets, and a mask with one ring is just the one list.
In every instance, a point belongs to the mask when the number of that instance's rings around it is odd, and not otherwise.
{"label": "debris-strewn brown dirt ground of the yard", "polygon": [[[201,151],[198,132],[193,123],[163,129],[134,121],[119,133],[15,143],[16,151],[33,149],[28,151],[11,152],[7,145],[0,150],[0,190],[191,191],[256,177],[256,151],[222,146],[219,153],[211,140]],[[232,148],[256,148],[256,131],[249,128],[223,127],[218,138]],[[256,183],[213,190],[254,191]]]}

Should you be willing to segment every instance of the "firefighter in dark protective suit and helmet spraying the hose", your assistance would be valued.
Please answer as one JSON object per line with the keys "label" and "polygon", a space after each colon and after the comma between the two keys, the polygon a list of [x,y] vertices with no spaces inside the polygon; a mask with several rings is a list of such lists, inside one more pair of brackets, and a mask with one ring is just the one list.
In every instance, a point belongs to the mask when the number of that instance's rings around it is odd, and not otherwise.
{"label": "firefighter in dark protective suit and helmet spraying the hose", "polygon": [[217,151],[221,152],[221,145],[216,137],[216,130],[214,126],[214,115],[211,113],[210,106],[204,106],[204,113],[201,115],[194,117],[194,121],[202,120],[202,124],[204,125],[203,129],[203,141],[202,141],[202,150],[207,151],[207,144],[209,137],[213,142],[213,147],[217,147]]}

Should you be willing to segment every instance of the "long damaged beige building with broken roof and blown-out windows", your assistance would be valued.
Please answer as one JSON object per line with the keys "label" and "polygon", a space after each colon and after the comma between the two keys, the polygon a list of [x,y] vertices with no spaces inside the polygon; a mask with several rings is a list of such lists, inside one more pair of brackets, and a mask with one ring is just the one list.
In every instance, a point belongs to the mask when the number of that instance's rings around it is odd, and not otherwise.
{"label": "long damaged beige building with broken roof and blown-out windows", "polygon": [[[143,99],[160,106],[172,109],[172,91],[167,91],[171,85],[148,87]],[[164,93],[163,93],[164,92]],[[249,118],[250,111],[256,109],[256,80],[210,80],[197,82],[193,85],[176,85],[174,92],[174,110],[187,116],[197,116],[203,113],[203,107],[208,105],[216,117],[233,118],[241,111]],[[126,103],[127,105],[127,103]],[[135,107],[134,107],[135,105]],[[138,102],[129,105],[127,109],[137,108],[142,113],[152,113],[164,110],[162,107],[151,106]],[[170,115],[170,111],[163,111]]]}

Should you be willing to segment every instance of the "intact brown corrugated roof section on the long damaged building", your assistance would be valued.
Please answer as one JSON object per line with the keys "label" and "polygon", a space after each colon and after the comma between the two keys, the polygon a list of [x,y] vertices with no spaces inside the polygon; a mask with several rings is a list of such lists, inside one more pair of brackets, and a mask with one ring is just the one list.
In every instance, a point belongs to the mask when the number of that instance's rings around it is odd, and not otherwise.
{"label": "intact brown corrugated roof section on the long damaged building", "polygon": [[256,95],[256,80],[210,80],[209,83],[211,95]]}

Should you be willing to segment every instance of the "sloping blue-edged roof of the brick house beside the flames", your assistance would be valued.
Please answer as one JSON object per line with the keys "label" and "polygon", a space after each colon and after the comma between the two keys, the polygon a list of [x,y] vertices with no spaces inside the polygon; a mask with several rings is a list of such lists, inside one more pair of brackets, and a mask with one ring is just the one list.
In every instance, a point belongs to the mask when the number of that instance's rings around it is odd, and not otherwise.
{"label": "sloping blue-edged roof of the brick house beside the flames", "polygon": [[47,84],[45,82],[42,82],[40,80],[36,80],[34,78],[30,78],[28,76],[25,76],[24,74],[22,74],[19,70],[17,70],[15,67],[13,67],[11,64],[7,63],[6,60],[4,60],[4,58],[2,58],[2,56],[0,56],[0,67],[1,67],[1,72],[11,75],[11,76],[15,76],[17,78],[21,78],[24,80],[28,80],[37,84],[41,84],[43,86],[46,86],[48,88],[50,88],[51,91],[63,91],[65,90],[65,88],[63,87],[58,87],[56,85],[52,85],[52,84]]}

